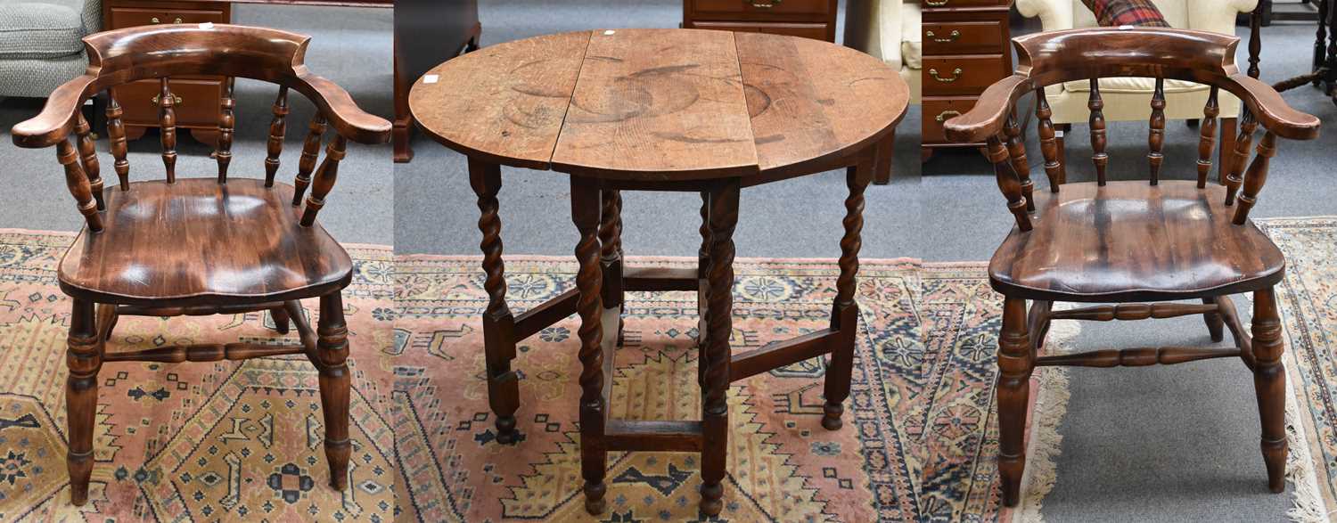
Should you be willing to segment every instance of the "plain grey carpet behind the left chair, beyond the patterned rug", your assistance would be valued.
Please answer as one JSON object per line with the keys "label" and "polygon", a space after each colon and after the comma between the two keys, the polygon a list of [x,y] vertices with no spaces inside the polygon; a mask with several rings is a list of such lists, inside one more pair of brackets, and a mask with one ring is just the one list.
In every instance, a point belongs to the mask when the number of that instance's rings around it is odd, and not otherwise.
{"label": "plain grey carpet behind the left chair, beyond the patterned rug", "polygon": [[[328,16],[337,12],[340,16]],[[392,9],[269,7],[237,4],[233,21],[267,25],[312,36],[306,64],[352,94],[362,110],[390,118],[393,114],[390,31]],[[269,136],[269,107],[278,88],[255,80],[237,83],[237,135],[233,142],[234,177],[263,178],[265,140]],[[53,148],[29,150],[13,146],[9,128],[35,116],[40,99],[0,99],[0,226],[78,230],[82,217],[64,186],[64,174]],[[279,179],[291,183],[297,173],[306,123],[313,106],[295,92],[289,96],[287,136]],[[333,131],[329,135],[333,135]],[[107,140],[98,142],[103,179],[115,181]],[[163,165],[156,131],[130,144],[130,179],[160,179]],[[182,132],[178,139],[176,173],[183,178],[214,177],[217,167],[202,144]],[[394,241],[390,147],[350,143],[340,165],[340,178],[326,198],[320,221],[342,242],[390,245]],[[111,183],[108,183],[110,186]]]}

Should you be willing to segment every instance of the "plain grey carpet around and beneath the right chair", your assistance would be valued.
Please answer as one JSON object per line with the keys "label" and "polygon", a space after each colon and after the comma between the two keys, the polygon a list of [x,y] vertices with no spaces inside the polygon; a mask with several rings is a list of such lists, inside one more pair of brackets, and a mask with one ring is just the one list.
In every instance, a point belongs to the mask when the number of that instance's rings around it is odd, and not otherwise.
{"label": "plain grey carpet around and beneath the right chair", "polygon": [[[1262,80],[1274,83],[1309,70],[1313,24],[1274,24],[1262,29]],[[1237,33],[1247,41],[1247,28]],[[1241,45],[1239,63],[1247,52]],[[1297,52],[1298,49],[1298,52]],[[1318,90],[1286,92],[1293,107],[1322,120],[1337,107]],[[1023,100],[1021,107],[1032,107]],[[1034,123],[1028,158],[1040,158]],[[1108,130],[1111,179],[1146,179],[1147,126],[1112,123]],[[1166,126],[1163,177],[1194,179],[1197,130],[1183,122]],[[1332,183],[1333,128],[1310,142],[1282,140],[1267,187],[1253,217],[1337,214]],[[1068,134],[1068,179],[1094,179],[1090,135],[1084,124]],[[1047,190],[1039,162],[1031,178]],[[1124,167],[1135,171],[1124,170]],[[1215,179],[1215,171],[1211,174]],[[920,229],[933,231],[919,255],[928,261],[988,259],[1012,226],[992,169],[979,154],[944,154],[924,165]],[[1243,321],[1250,305],[1235,297]],[[1083,322],[1075,348],[1209,345],[1197,317],[1131,322]],[[1229,338],[1227,338],[1229,340]],[[1285,495],[1266,491],[1258,452],[1258,415],[1253,380],[1234,360],[1211,360],[1138,369],[1070,369],[1071,400],[1059,427],[1058,484],[1044,498],[1051,522],[1274,522],[1290,508]]]}

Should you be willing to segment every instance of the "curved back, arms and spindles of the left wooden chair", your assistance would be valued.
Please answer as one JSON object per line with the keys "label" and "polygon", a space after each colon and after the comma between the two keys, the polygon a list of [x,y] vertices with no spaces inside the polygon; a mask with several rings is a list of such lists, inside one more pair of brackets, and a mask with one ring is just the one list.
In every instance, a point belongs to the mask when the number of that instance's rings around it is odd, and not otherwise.
{"label": "curved back, arms and spindles of the left wooden chair", "polygon": [[[249,78],[278,84],[278,98],[273,106],[273,120],[265,159],[265,183],[273,186],[282,151],[287,91],[305,95],[317,114],[298,161],[293,205],[302,202],[310,187],[301,225],[310,226],[325,205],[325,195],[334,186],[338,162],[345,155],[348,140],[385,143],[390,136],[390,123],[364,112],[346,91],[308,71],[303,64],[310,37],[286,31],[230,25],[185,24],[146,25],[84,37],[88,70],[84,75],[60,86],[47,99],[41,112],[13,127],[13,142],[20,147],[56,146],[56,155],[66,170],[66,185],[75,197],[91,233],[102,230],[98,211],[106,209],[103,181],[91,128],[80,108],[83,102],[100,91],[107,91],[107,134],[111,142],[114,169],[120,190],[130,190],[130,162],[126,159],[126,130],[120,120],[122,108],[112,87],[135,80],[159,79],[158,95],[163,167],[167,182],[175,182],[176,173],[176,115],[175,96],[170,76],[219,75],[226,76],[219,104],[218,182],[226,183],[231,163],[233,130],[235,128],[233,86],[235,78]],[[336,135],[329,140],[324,162],[317,169],[320,147],[328,124]],[[68,135],[76,134],[78,151]],[[314,175],[313,175],[314,173]]]}

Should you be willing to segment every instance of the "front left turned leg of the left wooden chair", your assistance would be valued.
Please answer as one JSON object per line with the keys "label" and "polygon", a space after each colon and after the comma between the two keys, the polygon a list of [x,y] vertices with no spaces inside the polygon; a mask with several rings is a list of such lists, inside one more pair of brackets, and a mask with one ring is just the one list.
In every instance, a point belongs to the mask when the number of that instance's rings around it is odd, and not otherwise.
{"label": "front left turned leg of the left wooden chair", "polygon": [[102,369],[103,340],[98,338],[94,302],[74,300],[70,314],[70,337],[66,364],[66,416],[70,431],[70,451],[66,467],[70,469],[70,502],[83,506],[88,502],[88,480],[92,478],[92,428],[98,413],[98,371]]}

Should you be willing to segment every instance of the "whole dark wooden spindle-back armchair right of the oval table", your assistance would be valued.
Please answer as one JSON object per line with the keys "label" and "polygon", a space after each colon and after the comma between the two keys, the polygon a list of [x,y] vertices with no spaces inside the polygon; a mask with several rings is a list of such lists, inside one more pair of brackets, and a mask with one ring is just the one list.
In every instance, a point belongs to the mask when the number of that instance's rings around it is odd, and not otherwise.
{"label": "whole dark wooden spindle-back armchair right of the oval table", "polygon": [[[1235,67],[1233,36],[1182,29],[1072,29],[1028,35],[1019,44],[1017,72],[991,86],[973,110],[945,124],[961,143],[987,143],[999,189],[1016,226],[989,262],[989,282],[1004,296],[999,334],[999,469],[1003,500],[1019,500],[1025,464],[1027,396],[1038,365],[1140,367],[1239,357],[1253,371],[1262,421],[1267,487],[1285,487],[1285,380],[1281,318],[1273,285],[1285,259],[1251,221],[1275,155],[1277,138],[1313,139],[1318,119],[1292,110],[1269,86]],[[1155,78],[1147,136],[1150,183],[1107,182],[1104,119],[1098,78]],[[1197,182],[1162,181],[1166,78],[1210,84],[1203,110]],[[1096,182],[1063,183],[1044,86],[1090,79],[1091,156]],[[1245,108],[1225,186],[1207,183],[1215,142],[1217,92],[1238,96]],[[1027,92],[1038,99],[1036,120],[1050,194],[1034,194],[1025,146],[1013,104]],[[1258,154],[1249,161],[1254,132],[1263,127]],[[1249,165],[1245,171],[1245,165]],[[1254,293],[1253,332],[1246,333],[1230,294]],[[1027,301],[1032,301],[1027,310]],[[1166,301],[1193,300],[1197,304]],[[1118,305],[1054,310],[1056,301]],[[1155,304],[1140,304],[1158,301]],[[1146,320],[1202,314],[1213,341],[1223,328],[1233,349],[1199,346],[1094,350],[1038,356],[1054,320]]]}

